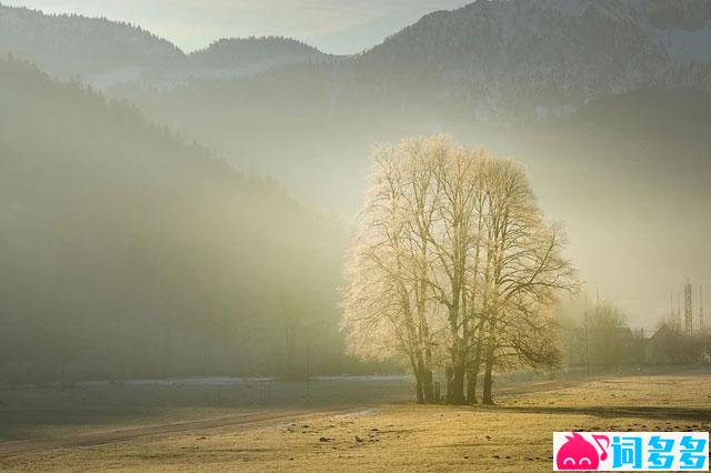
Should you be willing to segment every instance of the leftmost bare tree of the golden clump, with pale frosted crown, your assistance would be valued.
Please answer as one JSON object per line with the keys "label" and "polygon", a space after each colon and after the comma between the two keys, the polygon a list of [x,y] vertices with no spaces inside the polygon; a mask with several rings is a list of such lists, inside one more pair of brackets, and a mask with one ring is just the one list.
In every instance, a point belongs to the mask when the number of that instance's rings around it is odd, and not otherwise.
{"label": "leftmost bare tree of the golden clump, with pale frosted crown", "polygon": [[[351,353],[403,356],[414,374],[418,402],[432,402],[431,308],[428,242],[429,178],[417,142],[380,147],[371,188],[347,263],[344,316]],[[417,213],[417,217],[414,217]],[[394,350],[394,351],[393,351]]]}

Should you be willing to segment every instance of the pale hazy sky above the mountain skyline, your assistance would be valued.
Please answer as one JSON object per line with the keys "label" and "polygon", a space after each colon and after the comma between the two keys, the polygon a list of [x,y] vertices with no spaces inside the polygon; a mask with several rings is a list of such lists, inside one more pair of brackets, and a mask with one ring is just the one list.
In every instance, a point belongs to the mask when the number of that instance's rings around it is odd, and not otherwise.
{"label": "pale hazy sky above the mountain skyline", "polygon": [[280,34],[353,53],[435,10],[471,0],[0,0],[46,13],[130,21],[186,51],[216,39]]}

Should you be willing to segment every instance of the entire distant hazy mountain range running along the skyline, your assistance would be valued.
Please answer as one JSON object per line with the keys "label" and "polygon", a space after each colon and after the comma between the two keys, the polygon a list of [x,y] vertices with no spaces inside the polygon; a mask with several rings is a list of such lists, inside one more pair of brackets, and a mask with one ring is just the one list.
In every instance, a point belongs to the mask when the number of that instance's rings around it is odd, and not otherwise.
{"label": "entire distant hazy mountain range running along the skyline", "polygon": [[512,111],[544,120],[634,90],[711,92],[711,7],[703,0],[475,1],[428,14],[343,58],[277,37],[222,39],[184,54],[139,27],[0,7],[0,51],[100,89],[166,89],[317,63],[341,100],[397,99],[488,120],[507,120]]}

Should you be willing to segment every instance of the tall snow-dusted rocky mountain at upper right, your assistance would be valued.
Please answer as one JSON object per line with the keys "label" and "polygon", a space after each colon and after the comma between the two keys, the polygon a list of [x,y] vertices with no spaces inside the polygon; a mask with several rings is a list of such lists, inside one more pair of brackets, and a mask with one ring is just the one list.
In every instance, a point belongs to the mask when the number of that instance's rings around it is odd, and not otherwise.
{"label": "tall snow-dusted rocky mountain at upper right", "polygon": [[570,113],[640,89],[711,91],[703,0],[477,1],[425,16],[354,59],[374,93],[490,118]]}

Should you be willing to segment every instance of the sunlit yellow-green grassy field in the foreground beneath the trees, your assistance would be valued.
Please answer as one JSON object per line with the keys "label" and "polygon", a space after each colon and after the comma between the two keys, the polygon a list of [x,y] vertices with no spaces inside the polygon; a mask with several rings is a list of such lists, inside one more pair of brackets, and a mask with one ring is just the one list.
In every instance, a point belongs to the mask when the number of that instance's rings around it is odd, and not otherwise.
{"label": "sunlit yellow-green grassy field in the foreground beneath the trees", "polygon": [[708,373],[528,388],[491,407],[388,400],[343,403],[321,412],[272,406],[260,411],[271,413],[270,419],[244,423],[188,426],[96,445],[38,444],[26,453],[0,453],[0,469],[551,471],[553,431],[711,430]]}

